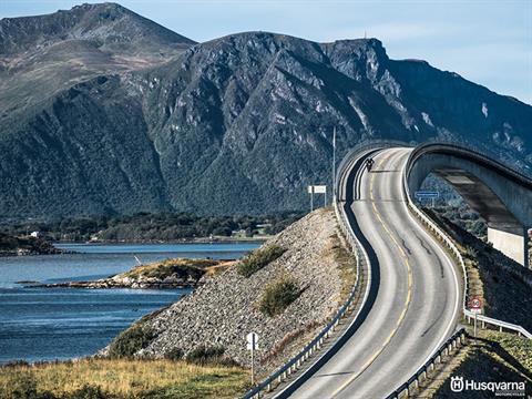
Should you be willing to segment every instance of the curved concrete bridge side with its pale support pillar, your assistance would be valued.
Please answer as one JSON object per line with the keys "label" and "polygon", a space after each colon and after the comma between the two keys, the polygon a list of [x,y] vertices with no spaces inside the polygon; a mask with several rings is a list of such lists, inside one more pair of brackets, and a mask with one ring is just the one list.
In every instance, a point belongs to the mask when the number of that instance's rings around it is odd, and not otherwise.
{"label": "curved concrete bridge side with its pale support pillar", "polygon": [[443,143],[416,147],[406,167],[409,195],[433,173],[488,222],[488,241],[528,266],[528,229],[532,227],[532,180],[469,149]]}

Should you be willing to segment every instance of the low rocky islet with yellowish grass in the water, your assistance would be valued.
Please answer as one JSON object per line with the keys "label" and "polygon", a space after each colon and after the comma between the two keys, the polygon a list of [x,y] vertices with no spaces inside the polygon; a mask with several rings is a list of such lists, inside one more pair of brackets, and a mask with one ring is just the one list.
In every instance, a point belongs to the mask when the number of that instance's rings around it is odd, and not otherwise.
{"label": "low rocky islet with yellowish grass in the water", "polygon": [[214,275],[233,265],[234,260],[215,259],[165,259],[140,265],[94,282],[68,282],[40,284],[31,287],[45,288],[194,288],[202,284],[204,276]]}

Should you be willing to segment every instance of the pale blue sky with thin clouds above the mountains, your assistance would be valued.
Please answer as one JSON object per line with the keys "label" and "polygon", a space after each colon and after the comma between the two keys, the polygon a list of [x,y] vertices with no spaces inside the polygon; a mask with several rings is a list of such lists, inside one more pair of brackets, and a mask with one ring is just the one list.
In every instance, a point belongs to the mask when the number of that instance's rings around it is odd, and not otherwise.
{"label": "pale blue sky with thin clouds above the mountains", "polygon": [[[0,0],[0,18],[66,10],[70,0]],[[392,59],[422,59],[532,104],[532,0],[122,0],[195,41],[270,31],[318,42],[377,38]]]}

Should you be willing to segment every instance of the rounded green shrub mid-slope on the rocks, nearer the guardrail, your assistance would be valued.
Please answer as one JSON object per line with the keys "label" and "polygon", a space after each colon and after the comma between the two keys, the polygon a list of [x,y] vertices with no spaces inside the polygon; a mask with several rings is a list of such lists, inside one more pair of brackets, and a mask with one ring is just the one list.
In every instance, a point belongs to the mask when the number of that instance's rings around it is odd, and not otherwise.
{"label": "rounded green shrub mid-slope on the rocks, nearer the guardrail", "polygon": [[258,308],[269,317],[280,315],[300,294],[297,283],[290,277],[283,276],[266,286]]}

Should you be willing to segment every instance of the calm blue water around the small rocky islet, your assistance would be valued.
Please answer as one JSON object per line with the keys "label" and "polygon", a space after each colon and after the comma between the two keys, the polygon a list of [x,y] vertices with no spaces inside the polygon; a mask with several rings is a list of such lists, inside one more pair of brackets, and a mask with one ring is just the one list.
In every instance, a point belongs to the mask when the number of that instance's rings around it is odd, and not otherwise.
{"label": "calm blue water around the small rocky islet", "polygon": [[0,364],[94,354],[141,316],[188,289],[23,288],[18,282],[59,283],[108,277],[170,257],[233,259],[245,244],[63,244],[78,254],[0,258]]}

